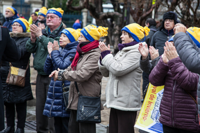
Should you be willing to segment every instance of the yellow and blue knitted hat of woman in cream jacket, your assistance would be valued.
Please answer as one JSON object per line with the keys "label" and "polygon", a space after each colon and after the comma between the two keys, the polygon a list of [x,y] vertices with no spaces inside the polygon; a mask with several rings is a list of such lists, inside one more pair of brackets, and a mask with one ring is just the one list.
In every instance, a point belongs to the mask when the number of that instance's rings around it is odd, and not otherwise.
{"label": "yellow and blue knitted hat of woman in cream jacket", "polygon": [[145,40],[145,37],[148,36],[150,29],[148,27],[142,27],[137,23],[132,23],[123,27],[122,31],[128,32],[136,42],[140,42],[143,38]]}

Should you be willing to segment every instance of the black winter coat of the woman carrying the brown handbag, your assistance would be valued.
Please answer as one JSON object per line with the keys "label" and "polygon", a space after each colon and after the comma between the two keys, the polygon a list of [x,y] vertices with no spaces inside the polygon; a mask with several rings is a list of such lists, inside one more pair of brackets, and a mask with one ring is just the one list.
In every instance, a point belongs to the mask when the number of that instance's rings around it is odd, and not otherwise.
{"label": "black winter coat of the woman carrying the brown handbag", "polygon": [[[28,64],[28,69],[26,72],[26,81],[24,87],[19,87],[15,85],[8,85],[3,81],[3,98],[4,102],[7,103],[22,103],[27,100],[33,99],[31,85],[30,85],[30,67],[29,67],[29,58],[31,53],[29,53],[26,48],[26,42],[30,37],[30,33],[11,33],[11,37],[15,40],[17,47],[21,53],[21,57],[18,61],[11,62],[12,66],[17,68],[26,69]],[[6,72],[9,70],[8,63],[5,63],[1,69],[4,69]],[[8,74],[8,73],[7,73]],[[7,74],[2,75],[2,80],[7,78]]]}

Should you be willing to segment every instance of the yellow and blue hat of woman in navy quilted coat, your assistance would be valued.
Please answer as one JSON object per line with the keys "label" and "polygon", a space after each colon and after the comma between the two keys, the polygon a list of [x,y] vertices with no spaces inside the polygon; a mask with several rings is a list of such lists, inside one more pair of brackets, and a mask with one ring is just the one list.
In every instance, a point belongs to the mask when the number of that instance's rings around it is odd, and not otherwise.
{"label": "yellow and blue hat of woman in navy quilted coat", "polygon": [[65,28],[61,31],[61,34],[64,33],[70,40],[70,42],[75,42],[80,36],[81,29]]}

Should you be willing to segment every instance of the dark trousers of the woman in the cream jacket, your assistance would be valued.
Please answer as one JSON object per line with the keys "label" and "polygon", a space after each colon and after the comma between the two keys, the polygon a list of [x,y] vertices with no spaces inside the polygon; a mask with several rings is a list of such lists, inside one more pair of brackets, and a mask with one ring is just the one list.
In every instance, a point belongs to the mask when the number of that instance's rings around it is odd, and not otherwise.
{"label": "dark trousers of the woman in the cream jacket", "polygon": [[134,133],[137,111],[121,111],[111,108],[109,133]]}

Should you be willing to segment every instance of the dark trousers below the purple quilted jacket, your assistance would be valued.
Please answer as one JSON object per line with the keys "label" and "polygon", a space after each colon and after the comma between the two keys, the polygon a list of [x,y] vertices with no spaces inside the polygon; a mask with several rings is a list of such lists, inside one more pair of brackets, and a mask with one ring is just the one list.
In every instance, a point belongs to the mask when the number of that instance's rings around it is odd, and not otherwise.
{"label": "dark trousers below the purple quilted jacket", "polygon": [[163,133],[194,133],[194,132],[163,125]]}

